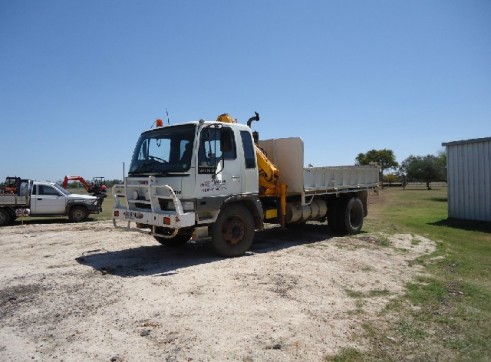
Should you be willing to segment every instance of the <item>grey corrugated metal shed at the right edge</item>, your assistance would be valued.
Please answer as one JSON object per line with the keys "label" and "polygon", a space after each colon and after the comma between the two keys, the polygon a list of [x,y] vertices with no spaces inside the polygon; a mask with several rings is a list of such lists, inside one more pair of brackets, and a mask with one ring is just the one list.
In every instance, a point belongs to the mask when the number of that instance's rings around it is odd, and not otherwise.
{"label": "grey corrugated metal shed at the right edge", "polygon": [[448,217],[491,221],[491,137],[446,142]]}

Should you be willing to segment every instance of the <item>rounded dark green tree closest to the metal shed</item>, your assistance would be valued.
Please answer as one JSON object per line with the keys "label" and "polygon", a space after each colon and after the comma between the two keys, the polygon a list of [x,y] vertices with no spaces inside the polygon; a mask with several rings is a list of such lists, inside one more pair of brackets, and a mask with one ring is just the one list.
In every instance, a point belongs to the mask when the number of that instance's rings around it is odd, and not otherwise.
{"label": "rounded dark green tree closest to the metal shed", "polygon": [[407,175],[407,178],[412,181],[426,182],[426,188],[431,190],[431,182],[444,181],[446,156],[409,156],[402,164],[400,171]]}

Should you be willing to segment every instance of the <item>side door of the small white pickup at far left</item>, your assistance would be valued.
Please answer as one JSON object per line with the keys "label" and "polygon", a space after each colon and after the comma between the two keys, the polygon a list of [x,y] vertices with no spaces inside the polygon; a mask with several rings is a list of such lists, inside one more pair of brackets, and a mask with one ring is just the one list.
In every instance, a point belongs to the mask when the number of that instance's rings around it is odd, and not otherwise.
{"label": "side door of the small white pickup at far left", "polygon": [[34,185],[31,197],[32,215],[60,215],[65,213],[66,198],[50,185]]}

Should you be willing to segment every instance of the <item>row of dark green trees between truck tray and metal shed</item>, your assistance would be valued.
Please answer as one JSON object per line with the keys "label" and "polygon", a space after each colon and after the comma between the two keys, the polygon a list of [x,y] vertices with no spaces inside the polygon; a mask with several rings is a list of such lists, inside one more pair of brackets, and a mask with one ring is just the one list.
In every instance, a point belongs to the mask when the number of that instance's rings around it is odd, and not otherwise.
{"label": "row of dark green trees between truck tray and metal shed", "polygon": [[[403,187],[408,182],[425,182],[428,190],[431,183],[446,181],[447,155],[439,152],[437,155],[414,156],[411,155],[400,164],[392,150],[370,150],[359,153],[355,159],[356,165],[369,165],[377,163],[380,166],[380,181],[389,184],[400,182]],[[393,170],[393,172],[387,172]]]}

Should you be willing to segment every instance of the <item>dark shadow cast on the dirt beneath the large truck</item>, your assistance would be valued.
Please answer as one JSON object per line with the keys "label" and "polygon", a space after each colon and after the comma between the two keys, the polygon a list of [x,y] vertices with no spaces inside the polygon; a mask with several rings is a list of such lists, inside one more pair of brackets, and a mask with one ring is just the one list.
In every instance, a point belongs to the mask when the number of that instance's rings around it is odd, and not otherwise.
{"label": "dark shadow cast on the dirt beneath the large truck", "polygon": [[[326,226],[317,225],[294,230],[266,229],[256,233],[250,250],[240,258],[324,241],[333,236],[329,234]],[[212,253],[205,241],[197,241],[188,242],[178,248],[157,244],[117,251],[97,249],[87,251],[75,260],[82,265],[92,267],[103,275],[136,277],[174,275],[180,269],[224,259],[226,258]]]}

